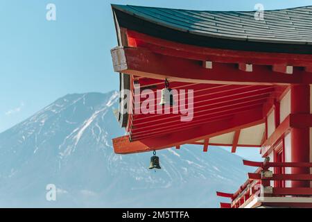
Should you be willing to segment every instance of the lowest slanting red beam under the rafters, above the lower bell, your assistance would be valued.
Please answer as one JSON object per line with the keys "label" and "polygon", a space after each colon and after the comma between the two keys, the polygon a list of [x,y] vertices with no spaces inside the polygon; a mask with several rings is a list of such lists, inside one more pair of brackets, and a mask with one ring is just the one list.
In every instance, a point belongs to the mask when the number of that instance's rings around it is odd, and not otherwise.
{"label": "lowest slanting red beam under the rafters, above the lower bell", "polygon": [[190,144],[206,139],[207,137],[229,133],[239,128],[255,126],[262,122],[262,110],[258,109],[253,110],[252,114],[250,114],[250,112],[241,112],[239,114],[234,114],[231,119],[213,121],[209,124],[202,124],[187,130],[167,133],[166,135],[155,138],[146,138],[130,142],[129,136],[119,137],[113,139],[113,146],[115,153],[119,154],[155,151],[181,144]]}

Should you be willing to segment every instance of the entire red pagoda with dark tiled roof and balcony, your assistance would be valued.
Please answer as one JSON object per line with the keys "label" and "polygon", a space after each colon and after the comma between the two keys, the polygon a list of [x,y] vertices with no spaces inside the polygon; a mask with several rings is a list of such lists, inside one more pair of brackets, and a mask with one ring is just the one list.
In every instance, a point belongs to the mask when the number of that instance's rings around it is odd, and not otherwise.
{"label": "entire red pagoda with dark tiled roof and balcony", "polygon": [[[112,6],[119,46],[118,119],[127,135],[113,139],[119,154],[179,149],[183,144],[261,148],[264,162],[224,208],[312,207],[312,6],[257,12]],[[181,112],[137,112],[144,90],[164,85]],[[166,85],[166,87],[168,87]],[[147,96],[145,97],[147,98]],[[163,111],[161,96],[149,97]],[[189,114],[190,114],[189,113]]]}

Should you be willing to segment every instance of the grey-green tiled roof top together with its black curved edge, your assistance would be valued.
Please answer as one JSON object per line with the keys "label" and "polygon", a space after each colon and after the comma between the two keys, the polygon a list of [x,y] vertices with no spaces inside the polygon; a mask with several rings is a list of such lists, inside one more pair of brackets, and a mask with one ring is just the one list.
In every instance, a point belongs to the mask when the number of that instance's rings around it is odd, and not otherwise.
{"label": "grey-green tiled roof top together with its black curved edge", "polygon": [[[270,51],[270,47],[263,49],[259,43],[295,44],[304,45],[302,53],[311,53],[311,48],[306,51],[306,44],[312,47],[312,6],[266,10],[263,20],[254,19],[255,11],[182,10],[121,5],[112,5],[112,9],[119,26],[184,44],[244,50],[242,42],[248,42],[253,43],[248,46],[253,51]],[[275,52],[287,52],[285,46],[274,48]],[[300,53],[299,48],[293,51]]]}

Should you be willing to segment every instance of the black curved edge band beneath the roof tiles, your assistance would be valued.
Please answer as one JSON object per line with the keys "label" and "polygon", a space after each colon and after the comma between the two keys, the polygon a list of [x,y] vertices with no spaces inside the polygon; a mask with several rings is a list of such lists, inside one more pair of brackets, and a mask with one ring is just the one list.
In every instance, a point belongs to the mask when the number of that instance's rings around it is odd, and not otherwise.
{"label": "black curved edge band beneath the roof tiles", "polygon": [[249,37],[248,35],[212,33],[151,19],[140,12],[130,10],[129,6],[112,5],[112,9],[120,27],[164,40],[214,49],[312,54],[312,39],[310,42],[298,40],[297,37],[290,40],[289,38],[261,37],[261,35]]}

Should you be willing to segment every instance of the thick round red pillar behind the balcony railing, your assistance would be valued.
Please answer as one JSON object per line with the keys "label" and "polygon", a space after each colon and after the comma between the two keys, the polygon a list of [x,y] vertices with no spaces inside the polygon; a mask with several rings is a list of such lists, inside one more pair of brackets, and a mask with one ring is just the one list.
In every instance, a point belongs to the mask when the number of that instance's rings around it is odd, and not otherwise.
{"label": "thick round red pillar behind the balcony railing", "polygon": [[[291,87],[291,113],[310,113],[310,86],[293,85]],[[291,161],[310,162],[310,129],[291,129]],[[292,173],[310,173],[310,169],[293,168]],[[292,187],[310,187],[310,182],[293,181]]]}

